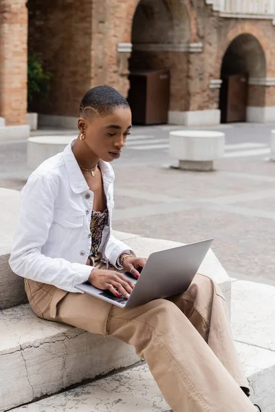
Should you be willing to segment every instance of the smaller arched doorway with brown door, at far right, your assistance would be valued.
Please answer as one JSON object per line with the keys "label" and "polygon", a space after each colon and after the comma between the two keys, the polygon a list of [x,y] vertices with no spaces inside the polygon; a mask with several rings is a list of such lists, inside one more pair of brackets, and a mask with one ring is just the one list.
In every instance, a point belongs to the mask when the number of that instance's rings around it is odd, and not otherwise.
{"label": "smaller arched doorway with brown door, at far right", "polygon": [[248,106],[264,106],[265,88],[256,87],[266,77],[265,52],[252,34],[241,34],[228,46],[221,65],[219,108],[221,122],[245,122]]}

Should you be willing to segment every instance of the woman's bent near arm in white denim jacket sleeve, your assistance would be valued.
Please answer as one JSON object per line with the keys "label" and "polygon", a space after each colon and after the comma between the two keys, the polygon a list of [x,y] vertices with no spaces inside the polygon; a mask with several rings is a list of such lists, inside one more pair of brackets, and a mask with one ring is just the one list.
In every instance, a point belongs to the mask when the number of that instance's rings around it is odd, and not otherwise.
{"label": "woman's bent near arm in white denim jacket sleeve", "polygon": [[9,263],[19,276],[76,292],[74,286],[86,282],[93,267],[41,253],[52,226],[56,194],[51,176],[30,177],[21,192],[21,211]]}

